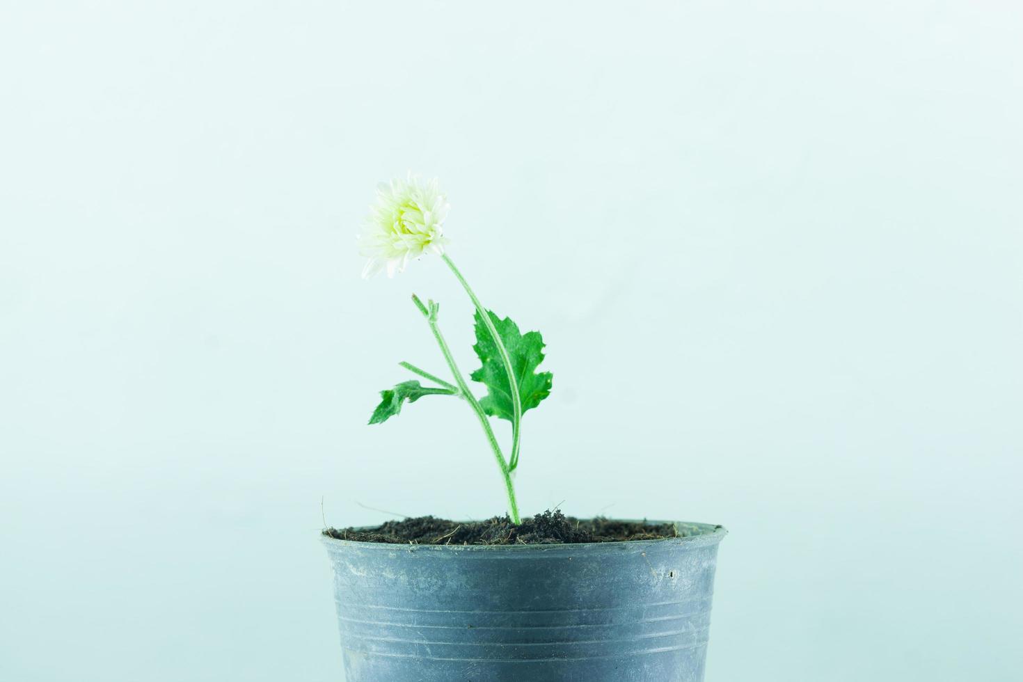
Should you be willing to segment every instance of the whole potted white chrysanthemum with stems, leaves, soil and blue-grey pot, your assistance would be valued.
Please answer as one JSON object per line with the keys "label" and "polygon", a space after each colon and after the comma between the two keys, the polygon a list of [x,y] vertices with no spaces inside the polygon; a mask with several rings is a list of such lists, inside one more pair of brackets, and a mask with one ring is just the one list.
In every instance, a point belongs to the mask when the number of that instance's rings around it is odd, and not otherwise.
{"label": "whole potted white chrysanthemum with stems, leaves, soil and blue-grey pot", "polygon": [[[412,297],[447,364],[381,393],[370,424],[406,403],[463,401],[501,475],[507,512],[486,521],[432,516],[323,531],[348,682],[698,682],[703,680],[720,526],[520,516],[514,474],[523,415],[550,394],[543,338],[486,309],[446,253],[446,196],[414,177],[377,189],[360,238],[363,276],[433,254],[476,307],[480,366],[468,379]],[[421,380],[426,380],[424,385]],[[510,422],[502,449],[491,418]]]}

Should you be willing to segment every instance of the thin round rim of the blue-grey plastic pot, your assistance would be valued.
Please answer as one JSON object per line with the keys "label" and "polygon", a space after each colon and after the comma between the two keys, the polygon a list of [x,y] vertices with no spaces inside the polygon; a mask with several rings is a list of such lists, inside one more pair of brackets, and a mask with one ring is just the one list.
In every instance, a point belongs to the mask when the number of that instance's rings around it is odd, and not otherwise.
{"label": "thin round rim of the blue-grey plastic pot", "polygon": [[[537,551],[552,551],[552,550],[581,550],[581,549],[592,549],[595,547],[603,547],[606,549],[622,549],[625,547],[649,547],[651,545],[660,544],[686,544],[686,545],[710,545],[717,544],[721,542],[721,539],[728,534],[727,529],[718,524],[700,524],[695,521],[662,521],[650,518],[614,518],[611,520],[621,520],[626,522],[644,522],[644,524],[674,524],[676,527],[686,527],[686,530],[701,531],[697,535],[686,535],[677,538],[660,538],[658,540],[615,540],[612,542],[572,542],[572,543],[554,543],[554,544],[535,544],[535,545],[402,545],[398,543],[391,542],[365,542],[362,540],[342,540],[340,538],[332,538],[327,535],[323,535],[320,532],[320,540],[323,541],[327,547],[349,547],[349,548],[359,548],[368,550],[380,550],[380,551],[390,551],[394,552],[396,550],[404,549],[407,551],[454,551],[454,552],[537,552]],[[356,528],[357,531],[369,530],[375,528],[373,526],[361,526]]]}

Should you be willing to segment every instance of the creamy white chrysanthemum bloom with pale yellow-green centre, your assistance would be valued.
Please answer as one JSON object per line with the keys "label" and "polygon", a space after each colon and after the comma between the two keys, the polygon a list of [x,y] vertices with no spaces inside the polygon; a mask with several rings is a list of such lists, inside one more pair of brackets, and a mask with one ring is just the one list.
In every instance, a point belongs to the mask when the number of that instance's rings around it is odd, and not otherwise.
{"label": "creamy white chrysanthemum bloom with pale yellow-green centre", "polygon": [[386,269],[388,277],[394,277],[424,254],[443,255],[448,208],[436,178],[422,184],[409,175],[377,185],[376,203],[359,236],[359,253],[369,259],[362,276],[368,279]]}

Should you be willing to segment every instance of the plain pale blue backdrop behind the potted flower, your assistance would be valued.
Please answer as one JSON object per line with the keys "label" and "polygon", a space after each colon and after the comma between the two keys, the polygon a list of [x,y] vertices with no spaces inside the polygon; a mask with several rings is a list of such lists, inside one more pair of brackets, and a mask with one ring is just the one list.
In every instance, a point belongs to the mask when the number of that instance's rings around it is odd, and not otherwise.
{"label": "plain pale blue backdrop behind the potted flower", "polygon": [[[0,679],[342,678],[331,525],[483,517],[471,413],[365,426],[436,259],[543,331],[535,512],[725,524],[708,682],[1023,666],[1017,3],[23,2],[0,21]],[[502,426],[502,433],[503,426]]]}

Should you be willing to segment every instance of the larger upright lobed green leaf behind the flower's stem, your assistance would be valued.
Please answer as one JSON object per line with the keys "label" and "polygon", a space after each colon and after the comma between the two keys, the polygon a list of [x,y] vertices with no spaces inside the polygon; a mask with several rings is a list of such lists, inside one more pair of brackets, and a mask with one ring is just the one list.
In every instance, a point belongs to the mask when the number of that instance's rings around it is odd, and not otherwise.
{"label": "larger upright lobed green leaf behind the flower's stem", "polygon": [[[497,335],[511,359],[511,369],[519,383],[519,396],[522,400],[523,414],[540,404],[540,401],[550,395],[550,382],[553,374],[537,372],[537,366],[543,362],[543,337],[539,331],[519,332],[519,325],[505,317],[498,318],[492,311],[487,311],[491,322],[497,329]],[[497,345],[490,335],[490,330],[483,322],[480,312],[476,312],[476,346],[473,350],[480,357],[483,366],[470,376],[474,381],[486,384],[489,393],[480,401],[483,411],[493,417],[511,421],[511,391],[508,385],[507,372],[501,361]]]}

